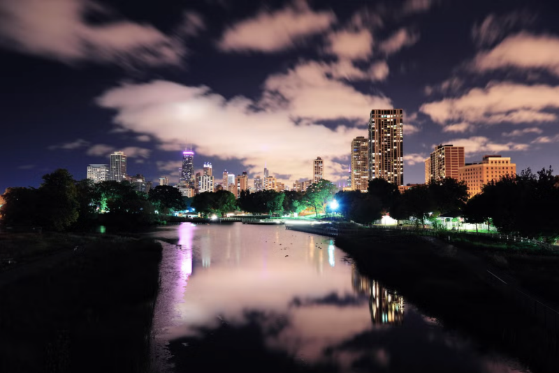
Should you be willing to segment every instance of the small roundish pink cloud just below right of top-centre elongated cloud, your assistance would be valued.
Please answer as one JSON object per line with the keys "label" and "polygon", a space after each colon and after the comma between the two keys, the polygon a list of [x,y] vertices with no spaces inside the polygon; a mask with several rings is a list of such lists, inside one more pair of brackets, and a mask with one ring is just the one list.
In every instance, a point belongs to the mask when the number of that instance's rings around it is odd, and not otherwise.
{"label": "small roundish pink cloud just below right of top-centre elongated cloud", "polygon": [[372,34],[367,29],[342,30],[328,35],[326,52],[339,59],[367,59],[372,55]]}

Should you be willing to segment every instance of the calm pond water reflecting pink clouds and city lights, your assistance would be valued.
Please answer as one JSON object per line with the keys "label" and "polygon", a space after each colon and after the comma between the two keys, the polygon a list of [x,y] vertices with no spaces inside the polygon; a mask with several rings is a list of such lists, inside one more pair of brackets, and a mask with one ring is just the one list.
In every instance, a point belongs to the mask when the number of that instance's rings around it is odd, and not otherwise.
{"label": "calm pond water reflecting pink clouds and city lights", "polygon": [[161,264],[153,357],[168,372],[527,372],[358,273],[330,238],[183,223]]}

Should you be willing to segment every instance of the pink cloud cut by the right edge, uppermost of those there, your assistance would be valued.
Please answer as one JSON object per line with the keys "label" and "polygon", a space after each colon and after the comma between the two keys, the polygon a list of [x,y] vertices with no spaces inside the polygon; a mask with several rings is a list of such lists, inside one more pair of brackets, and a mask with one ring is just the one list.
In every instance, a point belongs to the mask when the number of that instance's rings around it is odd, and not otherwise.
{"label": "pink cloud cut by the right edge, uppermost of those there", "polygon": [[517,33],[472,61],[472,69],[481,73],[501,68],[543,69],[559,75],[559,38]]}

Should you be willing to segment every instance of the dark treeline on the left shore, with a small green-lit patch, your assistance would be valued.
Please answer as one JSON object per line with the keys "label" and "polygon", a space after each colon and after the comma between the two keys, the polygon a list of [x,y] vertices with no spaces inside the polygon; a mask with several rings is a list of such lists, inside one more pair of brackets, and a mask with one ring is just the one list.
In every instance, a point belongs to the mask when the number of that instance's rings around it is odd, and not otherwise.
{"label": "dark treeline on the left shore, with a small green-lit patch", "polygon": [[66,169],[44,175],[39,188],[8,188],[2,197],[3,224],[53,231],[96,224],[130,229],[153,224],[161,215],[187,206],[179,190],[168,185],[158,185],[148,195],[126,181],[75,181]]}

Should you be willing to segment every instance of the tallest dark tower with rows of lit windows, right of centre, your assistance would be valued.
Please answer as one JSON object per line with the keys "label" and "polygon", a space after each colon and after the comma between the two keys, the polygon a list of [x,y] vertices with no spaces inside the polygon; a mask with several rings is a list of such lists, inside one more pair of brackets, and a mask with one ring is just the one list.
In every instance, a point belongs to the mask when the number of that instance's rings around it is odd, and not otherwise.
{"label": "tallest dark tower with rows of lit windows, right of centre", "polygon": [[372,109],[369,119],[369,180],[404,185],[402,109]]}

